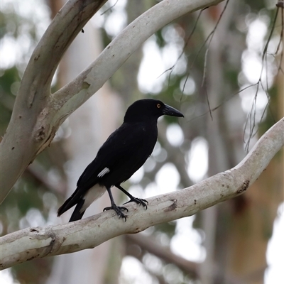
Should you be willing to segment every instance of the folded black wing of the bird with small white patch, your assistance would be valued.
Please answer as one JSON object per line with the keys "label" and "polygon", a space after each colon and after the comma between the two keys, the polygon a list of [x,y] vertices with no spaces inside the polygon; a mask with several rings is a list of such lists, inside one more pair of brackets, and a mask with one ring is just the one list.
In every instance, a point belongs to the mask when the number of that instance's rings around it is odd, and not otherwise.
{"label": "folded black wing of the bird with small white patch", "polygon": [[[141,165],[143,165],[148,156],[151,155],[157,140],[155,133],[151,133],[151,135],[147,133],[148,131],[146,132],[145,126],[141,123],[122,124],[109,136],[99,149],[97,157],[84,170],[77,182],[77,187],[89,189],[96,183],[105,180],[111,171],[124,168],[128,162],[131,163],[131,168],[137,168],[137,164],[142,163]],[[151,140],[151,147],[146,145],[149,140]],[[141,149],[146,149],[145,153],[141,153]],[[133,155],[137,156],[136,153],[138,152],[141,158],[133,159]]]}

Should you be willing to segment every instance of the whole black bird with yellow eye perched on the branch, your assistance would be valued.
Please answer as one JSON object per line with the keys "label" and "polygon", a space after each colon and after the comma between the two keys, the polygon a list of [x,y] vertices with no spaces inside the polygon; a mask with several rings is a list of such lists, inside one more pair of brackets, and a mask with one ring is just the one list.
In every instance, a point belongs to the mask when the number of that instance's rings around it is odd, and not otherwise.
{"label": "whole black bird with yellow eye perched on the branch", "polygon": [[131,104],[124,123],[107,138],[97,157],[84,170],[77,189],[58,209],[58,217],[77,204],[69,222],[81,219],[87,207],[107,190],[111,207],[104,210],[114,209],[126,221],[122,210],[128,210],[116,206],[111,194],[112,186],[124,192],[130,198],[129,202],[142,204],[147,209],[148,202],[133,197],[121,187],[121,182],[141,168],[153,152],[158,137],[157,120],[163,115],[183,117],[180,111],[156,99],[141,99]]}

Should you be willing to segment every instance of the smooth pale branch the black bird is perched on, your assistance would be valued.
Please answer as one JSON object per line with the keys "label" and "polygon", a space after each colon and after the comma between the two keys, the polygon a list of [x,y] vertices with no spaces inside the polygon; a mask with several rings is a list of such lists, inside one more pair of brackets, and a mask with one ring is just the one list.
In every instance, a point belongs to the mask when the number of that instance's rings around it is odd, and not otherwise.
{"label": "smooth pale branch the black bird is perched on", "polygon": [[23,229],[1,237],[1,269],[17,263],[92,249],[121,234],[135,234],[149,226],[169,222],[244,193],[284,145],[284,119],[259,139],[244,160],[231,170],[207,178],[184,190],[148,199],[148,209],[126,204],[128,219],[102,212],[68,224]]}

